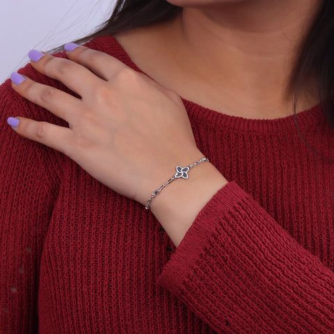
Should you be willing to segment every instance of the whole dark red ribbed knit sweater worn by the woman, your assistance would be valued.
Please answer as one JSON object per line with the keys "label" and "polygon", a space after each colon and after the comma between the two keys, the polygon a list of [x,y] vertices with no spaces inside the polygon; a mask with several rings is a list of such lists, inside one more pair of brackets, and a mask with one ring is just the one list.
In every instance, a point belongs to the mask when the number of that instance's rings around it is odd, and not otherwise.
{"label": "whole dark red ribbed knit sweater worn by the woman", "polygon": [[[87,45],[141,72],[113,36]],[[30,64],[19,72],[69,91]],[[16,134],[9,116],[68,124],[1,86],[1,334],[334,333],[334,164],[294,116],[182,100],[229,183],[175,248],[139,202]],[[296,118],[334,159],[321,106]]]}

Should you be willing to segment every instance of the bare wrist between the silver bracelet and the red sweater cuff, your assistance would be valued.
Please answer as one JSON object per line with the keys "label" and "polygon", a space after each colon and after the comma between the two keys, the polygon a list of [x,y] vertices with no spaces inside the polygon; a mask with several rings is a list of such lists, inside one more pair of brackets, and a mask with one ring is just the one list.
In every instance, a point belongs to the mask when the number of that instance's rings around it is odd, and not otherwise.
{"label": "bare wrist between the silver bracelet and the red sweater cuff", "polygon": [[189,170],[189,178],[174,180],[157,195],[150,209],[175,244],[180,245],[200,210],[228,180],[209,161]]}

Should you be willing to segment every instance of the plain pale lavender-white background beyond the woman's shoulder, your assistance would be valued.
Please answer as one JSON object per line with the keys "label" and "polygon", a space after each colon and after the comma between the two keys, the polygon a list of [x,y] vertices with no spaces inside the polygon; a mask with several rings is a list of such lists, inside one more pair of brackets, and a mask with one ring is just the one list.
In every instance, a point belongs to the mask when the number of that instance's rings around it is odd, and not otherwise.
{"label": "plain pale lavender-white background beyond the woman's shoulder", "polygon": [[89,35],[111,16],[116,0],[0,0],[0,84],[28,61]]}

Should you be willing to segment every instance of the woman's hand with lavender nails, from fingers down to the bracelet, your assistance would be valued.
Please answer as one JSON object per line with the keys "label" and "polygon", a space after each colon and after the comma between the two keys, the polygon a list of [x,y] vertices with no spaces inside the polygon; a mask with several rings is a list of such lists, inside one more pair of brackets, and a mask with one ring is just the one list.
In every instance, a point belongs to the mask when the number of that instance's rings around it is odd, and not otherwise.
{"label": "woman's hand with lavender nails, from fingers down to the bracelet", "polygon": [[96,180],[143,205],[176,173],[175,166],[203,157],[173,90],[83,46],[67,51],[70,60],[38,51],[29,55],[35,70],[61,81],[81,99],[12,75],[19,95],[69,123],[67,128],[15,117],[19,124],[13,129],[20,136],[63,152]]}

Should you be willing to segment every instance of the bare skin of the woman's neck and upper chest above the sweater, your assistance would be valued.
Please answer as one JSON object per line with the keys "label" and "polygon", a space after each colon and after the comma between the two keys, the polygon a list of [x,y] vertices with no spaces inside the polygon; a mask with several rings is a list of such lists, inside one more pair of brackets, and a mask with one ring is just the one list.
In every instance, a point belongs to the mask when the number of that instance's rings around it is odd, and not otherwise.
{"label": "bare skin of the woman's neck and upper chest above the sweater", "polygon": [[[183,7],[176,19],[115,35],[141,70],[221,113],[255,119],[293,114],[289,75],[321,1],[168,2]],[[310,78],[296,111],[318,102]]]}

